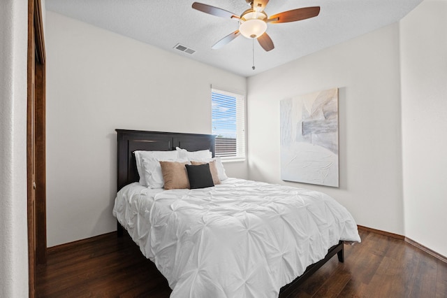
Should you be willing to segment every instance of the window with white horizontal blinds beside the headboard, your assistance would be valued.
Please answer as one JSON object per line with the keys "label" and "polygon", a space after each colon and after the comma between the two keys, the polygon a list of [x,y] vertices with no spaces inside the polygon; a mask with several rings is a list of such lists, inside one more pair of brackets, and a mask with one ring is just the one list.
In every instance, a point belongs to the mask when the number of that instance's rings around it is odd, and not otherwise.
{"label": "window with white horizontal blinds beside the headboard", "polygon": [[216,135],[216,156],[245,158],[245,102],[240,94],[211,90],[212,134]]}

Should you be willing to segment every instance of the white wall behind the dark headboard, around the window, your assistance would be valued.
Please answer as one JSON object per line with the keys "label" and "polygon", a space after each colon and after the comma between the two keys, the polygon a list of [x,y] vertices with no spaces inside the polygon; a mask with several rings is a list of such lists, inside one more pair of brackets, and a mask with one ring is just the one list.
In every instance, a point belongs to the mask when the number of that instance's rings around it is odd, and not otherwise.
{"label": "white wall behind the dark headboard, around the window", "polygon": [[[47,243],[116,229],[115,129],[211,132],[210,87],[246,79],[47,11]],[[226,164],[246,178],[247,163]]]}

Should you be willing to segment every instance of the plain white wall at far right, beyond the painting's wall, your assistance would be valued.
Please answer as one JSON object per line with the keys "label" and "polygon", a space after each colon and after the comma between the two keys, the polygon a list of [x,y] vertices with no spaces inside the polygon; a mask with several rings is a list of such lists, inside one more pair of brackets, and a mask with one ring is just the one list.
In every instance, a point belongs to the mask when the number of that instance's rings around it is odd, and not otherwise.
{"label": "plain white wall at far right, beyond the painting's wall", "polygon": [[400,23],[405,234],[447,256],[447,1]]}

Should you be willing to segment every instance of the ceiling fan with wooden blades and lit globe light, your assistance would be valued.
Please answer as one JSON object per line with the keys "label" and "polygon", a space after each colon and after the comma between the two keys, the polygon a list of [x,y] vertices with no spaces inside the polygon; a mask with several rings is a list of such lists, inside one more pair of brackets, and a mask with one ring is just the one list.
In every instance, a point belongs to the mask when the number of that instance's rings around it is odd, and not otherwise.
{"label": "ceiling fan with wooden blades and lit globe light", "polygon": [[284,23],[295,22],[300,20],[309,19],[310,17],[316,17],[320,13],[320,6],[297,8],[293,10],[284,11],[283,13],[277,13],[268,17],[264,12],[265,6],[269,0],[245,0],[250,4],[251,8],[245,10],[242,15],[235,15],[228,10],[217,8],[203,3],[194,2],[193,8],[200,10],[203,13],[209,13],[210,15],[216,15],[217,17],[224,17],[235,19],[239,21],[239,29],[228,34],[217,43],[212,46],[213,49],[218,49],[226,45],[230,41],[233,41],[237,36],[245,36],[247,38],[256,38],[261,47],[270,51],[274,49],[273,41],[267,32],[268,23]]}

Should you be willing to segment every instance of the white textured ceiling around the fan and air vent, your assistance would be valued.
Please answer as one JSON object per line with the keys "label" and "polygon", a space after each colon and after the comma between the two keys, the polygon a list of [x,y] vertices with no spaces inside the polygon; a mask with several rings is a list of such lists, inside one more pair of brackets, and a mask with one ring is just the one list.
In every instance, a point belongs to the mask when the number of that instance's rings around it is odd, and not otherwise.
{"label": "white textured ceiling around the fan and air vent", "polygon": [[[191,0],[46,0],[47,10],[129,36],[177,55],[254,76],[331,45],[397,22],[422,0],[270,0],[265,13],[321,6],[317,17],[298,22],[268,24],[274,50],[265,52],[251,39],[237,37],[219,50],[212,45],[238,28],[224,19],[191,8]],[[200,0],[240,15],[244,0]],[[196,52],[175,50],[177,43]],[[251,69],[253,53],[256,69]]]}

